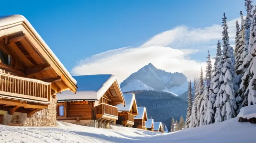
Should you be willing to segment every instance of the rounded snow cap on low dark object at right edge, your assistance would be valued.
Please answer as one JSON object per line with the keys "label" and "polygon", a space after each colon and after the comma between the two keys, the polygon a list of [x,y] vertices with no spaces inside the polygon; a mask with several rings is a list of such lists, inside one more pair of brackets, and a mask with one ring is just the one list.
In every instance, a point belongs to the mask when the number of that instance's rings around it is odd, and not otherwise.
{"label": "rounded snow cap on low dark object at right edge", "polygon": [[256,105],[242,107],[237,117],[242,117],[247,119],[256,117]]}

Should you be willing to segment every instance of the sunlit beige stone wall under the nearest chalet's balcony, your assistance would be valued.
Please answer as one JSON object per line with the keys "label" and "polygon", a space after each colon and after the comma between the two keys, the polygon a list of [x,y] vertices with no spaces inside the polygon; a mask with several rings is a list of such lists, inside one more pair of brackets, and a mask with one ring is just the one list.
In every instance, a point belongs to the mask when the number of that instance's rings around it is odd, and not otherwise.
{"label": "sunlit beige stone wall under the nearest chalet's balcony", "polygon": [[57,125],[57,99],[51,96],[51,103],[48,108],[40,110],[27,118],[24,126],[55,126]]}

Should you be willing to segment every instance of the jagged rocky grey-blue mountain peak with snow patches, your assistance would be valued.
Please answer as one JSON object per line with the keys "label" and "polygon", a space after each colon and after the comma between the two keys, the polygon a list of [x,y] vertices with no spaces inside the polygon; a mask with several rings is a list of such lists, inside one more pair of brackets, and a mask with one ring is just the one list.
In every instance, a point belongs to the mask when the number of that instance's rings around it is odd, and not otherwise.
{"label": "jagged rocky grey-blue mountain peak with snow patches", "polygon": [[145,65],[120,84],[122,92],[132,90],[156,90],[182,94],[188,90],[187,77],[179,72],[166,72],[153,64]]}

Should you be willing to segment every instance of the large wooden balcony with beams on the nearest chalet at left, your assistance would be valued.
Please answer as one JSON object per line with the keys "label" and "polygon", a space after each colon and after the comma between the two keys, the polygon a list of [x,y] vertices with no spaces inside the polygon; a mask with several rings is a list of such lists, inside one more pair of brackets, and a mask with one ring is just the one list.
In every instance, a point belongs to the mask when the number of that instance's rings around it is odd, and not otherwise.
{"label": "large wooden balcony with beams on the nearest chalet at left", "polygon": [[0,72],[0,110],[8,114],[19,110],[29,117],[48,107],[50,95],[51,83]]}

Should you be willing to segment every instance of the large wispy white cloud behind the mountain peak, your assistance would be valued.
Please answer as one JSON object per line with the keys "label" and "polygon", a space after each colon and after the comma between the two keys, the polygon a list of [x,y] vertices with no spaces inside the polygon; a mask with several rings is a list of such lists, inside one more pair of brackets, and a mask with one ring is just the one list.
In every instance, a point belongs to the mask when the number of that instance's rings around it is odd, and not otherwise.
{"label": "large wispy white cloud behind the mountain peak", "polygon": [[[236,20],[227,22],[230,39],[235,38]],[[152,63],[156,68],[167,72],[182,72],[192,80],[199,76],[201,65],[205,69],[206,63],[191,60],[189,56],[202,49],[206,51],[205,56],[207,56],[207,50],[216,48],[217,40],[221,41],[221,38],[220,25],[214,24],[204,28],[179,26],[153,36],[140,47],[124,47],[87,57],[77,63],[71,73],[74,75],[114,74],[118,82],[122,82],[144,65]],[[234,42],[230,40],[230,44]],[[214,60],[212,60],[213,63]]]}

